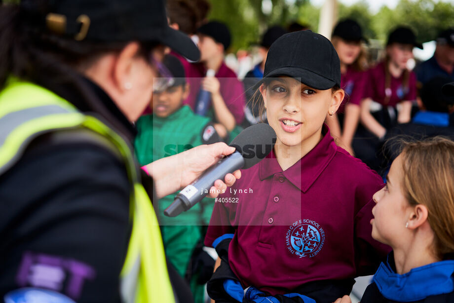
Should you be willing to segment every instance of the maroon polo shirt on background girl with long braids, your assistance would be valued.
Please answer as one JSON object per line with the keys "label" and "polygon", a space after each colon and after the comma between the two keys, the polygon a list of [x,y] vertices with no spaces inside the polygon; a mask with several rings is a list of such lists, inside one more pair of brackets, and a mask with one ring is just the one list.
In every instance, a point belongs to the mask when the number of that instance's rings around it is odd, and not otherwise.
{"label": "maroon polo shirt on background girl with long braids", "polygon": [[[368,84],[366,86],[365,98],[395,107],[401,101],[416,100],[416,75],[410,72],[408,87],[403,87],[404,75],[399,78],[391,76],[390,88],[385,90],[385,63],[380,62],[378,65],[367,72]],[[386,95],[390,95],[389,101],[385,104]]]}

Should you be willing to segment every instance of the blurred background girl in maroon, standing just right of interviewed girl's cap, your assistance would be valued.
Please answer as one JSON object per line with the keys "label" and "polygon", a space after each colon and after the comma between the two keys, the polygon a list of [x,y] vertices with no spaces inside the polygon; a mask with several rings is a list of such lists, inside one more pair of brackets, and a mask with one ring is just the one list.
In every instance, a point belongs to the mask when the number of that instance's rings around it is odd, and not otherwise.
{"label": "blurred background girl in maroon, standing just right of interviewed girl's cap", "polygon": [[345,91],[345,97],[338,111],[332,116],[326,116],[326,123],[332,136],[340,141],[337,143],[351,155],[354,155],[351,144],[359,123],[361,100],[367,84],[366,53],[361,46],[362,41],[367,42],[367,39],[364,38],[360,25],[351,19],[340,21],[331,38],[340,59],[340,87]]}

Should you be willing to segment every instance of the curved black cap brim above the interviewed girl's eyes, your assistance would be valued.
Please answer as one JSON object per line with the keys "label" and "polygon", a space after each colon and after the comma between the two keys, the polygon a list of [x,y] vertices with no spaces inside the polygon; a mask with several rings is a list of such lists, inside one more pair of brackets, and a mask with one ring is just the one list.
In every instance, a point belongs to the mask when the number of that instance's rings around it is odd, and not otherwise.
{"label": "curved black cap brim above the interviewed girl's eyes", "polygon": [[336,85],[335,81],[327,79],[308,70],[297,67],[281,67],[269,72],[263,79],[257,82],[254,85],[254,90],[259,88],[259,86],[262,85],[266,78],[273,78],[278,76],[289,76],[312,88],[320,90],[330,89]]}

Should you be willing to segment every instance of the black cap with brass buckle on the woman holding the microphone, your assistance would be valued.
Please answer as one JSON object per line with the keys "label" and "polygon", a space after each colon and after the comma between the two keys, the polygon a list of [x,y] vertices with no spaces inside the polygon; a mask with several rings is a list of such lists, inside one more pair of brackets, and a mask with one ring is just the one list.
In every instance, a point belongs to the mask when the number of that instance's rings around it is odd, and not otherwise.
{"label": "black cap with brass buckle on the woman holding the microphone", "polygon": [[21,0],[28,22],[45,31],[97,42],[158,42],[189,60],[200,51],[183,32],[168,26],[164,0]]}

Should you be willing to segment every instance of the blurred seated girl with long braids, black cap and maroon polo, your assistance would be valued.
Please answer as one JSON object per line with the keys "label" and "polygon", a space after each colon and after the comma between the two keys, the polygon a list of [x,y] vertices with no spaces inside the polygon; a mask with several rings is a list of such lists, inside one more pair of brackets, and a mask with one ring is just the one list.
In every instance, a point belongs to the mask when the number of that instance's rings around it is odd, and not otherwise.
{"label": "blurred seated girl with long braids, black cap and maroon polo", "polygon": [[[361,103],[364,127],[358,129],[353,149],[376,170],[381,164],[377,149],[386,131],[397,123],[410,122],[412,104],[416,100],[416,75],[407,69],[407,62],[413,58],[414,47],[422,49],[413,31],[398,27],[388,36],[385,59],[368,71],[365,99]],[[373,110],[377,108],[374,101],[379,104],[379,110]]]}

